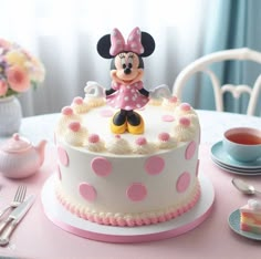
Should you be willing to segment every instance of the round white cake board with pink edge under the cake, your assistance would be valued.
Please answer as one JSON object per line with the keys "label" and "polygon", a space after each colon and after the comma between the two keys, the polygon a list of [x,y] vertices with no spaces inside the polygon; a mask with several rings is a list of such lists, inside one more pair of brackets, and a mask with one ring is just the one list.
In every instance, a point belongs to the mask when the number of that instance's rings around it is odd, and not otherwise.
{"label": "round white cake board with pink edge under the cake", "polygon": [[56,199],[52,175],[42,188],[42,205],[46,217],[65,231],[105,242],[145,242],[171,238],[199,226],[211,211],[215,190],[210,180],[199,177],[201,196],[197,205],[180,217],[166,222],[139,227],[105,226],[84,220],[66,210]]}

